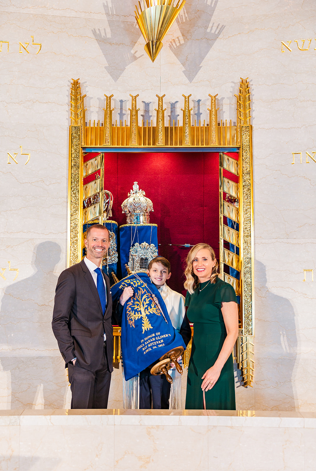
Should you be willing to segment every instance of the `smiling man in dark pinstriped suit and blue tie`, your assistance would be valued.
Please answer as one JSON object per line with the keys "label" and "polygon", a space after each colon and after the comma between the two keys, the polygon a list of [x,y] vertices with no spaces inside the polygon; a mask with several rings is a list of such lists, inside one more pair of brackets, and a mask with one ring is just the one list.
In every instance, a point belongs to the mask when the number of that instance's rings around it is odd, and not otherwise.
{"label": "smiling man in dark pinstriped suit and blue tie", "polygon": [[71,409],[106,409],[113,371],[110,281],[101,269],[108,229],[89,227],[85,246],[87,256],[58,278],[52,328],[68,366]]}

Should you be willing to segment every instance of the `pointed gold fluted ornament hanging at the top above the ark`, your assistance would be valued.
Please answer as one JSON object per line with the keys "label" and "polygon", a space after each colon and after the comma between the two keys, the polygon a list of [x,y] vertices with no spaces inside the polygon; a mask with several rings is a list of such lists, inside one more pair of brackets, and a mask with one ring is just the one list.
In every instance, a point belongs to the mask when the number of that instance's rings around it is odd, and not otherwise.
{"label": "pointed gold fluted ornament hanging at the top above the ark", "polygon": [[185,0],[143,0],[143,9],[140,1],[138,4],[141,11],[135,5],[135,18],[146,41],[144,49],[154,62],[163,46],[161,41],[179,15]]}

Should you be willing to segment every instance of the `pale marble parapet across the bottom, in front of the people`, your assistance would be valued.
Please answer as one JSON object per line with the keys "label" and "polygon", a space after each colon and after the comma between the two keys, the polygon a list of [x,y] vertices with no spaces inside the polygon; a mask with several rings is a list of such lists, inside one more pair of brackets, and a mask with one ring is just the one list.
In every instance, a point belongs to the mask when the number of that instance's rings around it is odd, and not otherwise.
{"label": "pale marble parapet across the bottom, in front of the people", "polygon": [[1,471],[315,471],[316,414],[2,410]]}

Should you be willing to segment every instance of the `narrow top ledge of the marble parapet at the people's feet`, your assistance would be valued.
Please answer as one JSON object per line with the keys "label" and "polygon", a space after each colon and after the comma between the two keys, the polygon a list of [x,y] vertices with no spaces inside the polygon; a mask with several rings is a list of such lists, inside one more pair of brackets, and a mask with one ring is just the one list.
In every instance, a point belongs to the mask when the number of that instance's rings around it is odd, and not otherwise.
{"label": "narrow top ledge of the marble parapet at the people's feet", "polygon": [[316,428],[316,413],[221,410],[19,409],[0,410],[0,426],[142,425]]}

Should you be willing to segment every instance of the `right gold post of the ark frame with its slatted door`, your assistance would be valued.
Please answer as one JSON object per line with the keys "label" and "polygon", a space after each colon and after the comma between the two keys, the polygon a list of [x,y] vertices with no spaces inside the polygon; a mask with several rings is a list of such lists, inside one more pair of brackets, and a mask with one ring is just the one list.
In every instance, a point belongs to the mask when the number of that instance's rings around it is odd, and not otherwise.
{"label": "right gold post of the ark frame with its slatted door", "polygon": [[[224,273],[240,296],[240,333],[237,341],[237,363],[244,386],[252,386],[254,373],[254,303],[253,303],[253,169],[251,93],[247,79],[241,79],[237,97],[236,142],[240,144],[239,160],[220,154],[220,269],[224,265],[239,272],[239,280]],[[223,177],[223,169],[239,175],[239,183]],[[223,198],[223,192],[226,198]],[[224,218],[229,218],[228,227]],[[239,231],[237,230],[237,224]],[[236,227],[235,227],[236,226]],[[236,230],[235,230],[236,229]],[[239,256],[224,247],[229,242],[239,247]],[[236,249],[237,250],[237,249]],[[238,277],[238,276],[237,276]]]}

